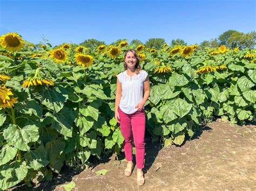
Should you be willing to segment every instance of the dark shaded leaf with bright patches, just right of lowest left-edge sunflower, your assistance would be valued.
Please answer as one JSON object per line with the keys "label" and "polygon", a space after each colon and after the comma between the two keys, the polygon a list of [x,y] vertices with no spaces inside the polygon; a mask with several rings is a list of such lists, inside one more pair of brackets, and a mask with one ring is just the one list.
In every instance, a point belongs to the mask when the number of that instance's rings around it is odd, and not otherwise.
{"label": "dark shaded leaf with bright patches, just right of lowest left-edge sunflower", "polygon": [[21,112],[22,114],[33,114],[37,117],[42,117],[41,106],[35,100],[26,100],[23,102],[18,102],[15,104],[15,108],[18,112]]}

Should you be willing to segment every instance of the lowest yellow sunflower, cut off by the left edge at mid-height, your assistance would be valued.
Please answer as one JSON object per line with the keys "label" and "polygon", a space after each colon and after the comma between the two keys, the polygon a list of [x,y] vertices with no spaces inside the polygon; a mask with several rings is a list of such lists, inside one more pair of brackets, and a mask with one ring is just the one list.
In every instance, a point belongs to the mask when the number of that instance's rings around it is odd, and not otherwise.
{"label": "lowest yellow sunflower, cut off by the left edge at mid-height", "polygon": [[14,103],[17,103],[17,97],[12,98],[11,89],[6,88],[5,86],[0,87],[0,108],[11,108],[14,106]]}

